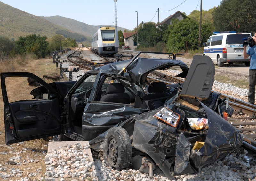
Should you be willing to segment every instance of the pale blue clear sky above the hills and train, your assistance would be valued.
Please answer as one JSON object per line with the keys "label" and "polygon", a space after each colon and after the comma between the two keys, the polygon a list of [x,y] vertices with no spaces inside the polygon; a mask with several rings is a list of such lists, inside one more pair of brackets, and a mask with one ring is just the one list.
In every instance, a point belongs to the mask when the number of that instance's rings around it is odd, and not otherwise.
{"label": "pale blue clear sky above the hills and train", "polygon": [[[63,16],[89,25],[114,25],[114,0],[0,0],[14,8],[35,16]],[[132,30],[143,22],[163,21],[177,11],[189,15],[200,11],[201,0],[117,0],[117,26]],[[202,10],[209,10],[220,5],[221,0],[202,0]],[[170,10],[170,11],[169,11]],[[135,11],[138,11],[135,12]],[[114,22],[114,23],[113,23]]]}

